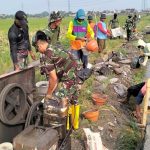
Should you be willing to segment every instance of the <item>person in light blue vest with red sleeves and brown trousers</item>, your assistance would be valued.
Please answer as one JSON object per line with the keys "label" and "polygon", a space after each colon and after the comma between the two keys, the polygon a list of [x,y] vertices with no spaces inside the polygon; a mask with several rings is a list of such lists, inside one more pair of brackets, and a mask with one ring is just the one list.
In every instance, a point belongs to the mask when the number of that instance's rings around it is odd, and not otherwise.
{"label": "person in light blue vest with red sleeves and brown trousers", "polygon": [[100,21],[97,24],[97,43],[99,47],[99,53],[102,52],[106,47],[106,39],[108,36],[111,36],[110,32],[107,30],[107,26],[105,23],[106,14],[101,14]]}

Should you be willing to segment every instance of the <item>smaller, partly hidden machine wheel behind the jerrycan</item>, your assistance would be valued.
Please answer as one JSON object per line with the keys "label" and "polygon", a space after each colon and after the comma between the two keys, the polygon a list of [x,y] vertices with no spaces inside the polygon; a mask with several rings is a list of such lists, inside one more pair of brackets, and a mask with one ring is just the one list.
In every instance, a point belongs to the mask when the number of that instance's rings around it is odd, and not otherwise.
{"label": "smaller, partly hidden machine wheel behind the jerrycan", "polygon": [[30,107],[28,112],[25,128],[29,125],[42,125],[43,121],[43,103],[41,101],[36,101]]}

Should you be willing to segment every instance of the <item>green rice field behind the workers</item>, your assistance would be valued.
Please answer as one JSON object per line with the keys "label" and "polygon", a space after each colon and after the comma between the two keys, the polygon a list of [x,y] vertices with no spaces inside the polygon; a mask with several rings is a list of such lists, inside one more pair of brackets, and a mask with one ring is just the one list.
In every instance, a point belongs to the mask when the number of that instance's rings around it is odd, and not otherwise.
{"label": "green rice field behind the workers", "polygon": [[[121,27],[124,25],[126,18],[127,16],[118,16]],[[71,17],[63,18],[62,23],[61,23],[60,41],[66,47],[69,47],[69,44],[68,44],[69,42],[66,39],[65,34],[67,32],[68,24],[71,19],[72,19]],[[106,19],[107,24],[110,19],[111,19],[111,16],[108,16]],[[150,20],[150,16],[142,17],[142,21],[138,25],[138,30],[140,31],[143,29],[144,26],[148,25],[149,20]],[[10,59],[7,33],[8,33],[10,26],[13,24],[13,21],[14,21],[13,19],[0,19],[0,65],[1,65],[0,74],[6,73],[12,70],[12,62]],[[99,21],[99,17],[97,17],[97,21]],[[29,18],[28,22],[29,22],[29,34],[30,34],[30,39],[31,39],[37,30],[46,28],[48,18]],[[107,49],[108,50],[115,49],[117,46],[120,45],[120,43],[121,43],[120,40],[113,40],[113,41],[108,40]]]}

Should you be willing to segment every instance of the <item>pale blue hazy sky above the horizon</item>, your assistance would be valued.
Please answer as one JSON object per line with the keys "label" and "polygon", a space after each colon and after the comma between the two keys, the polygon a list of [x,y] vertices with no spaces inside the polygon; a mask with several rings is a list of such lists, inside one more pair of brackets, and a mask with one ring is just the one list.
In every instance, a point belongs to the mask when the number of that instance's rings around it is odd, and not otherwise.
{"label": "pale blue hazy sky above the horizon", "polygon": [[121,10],[135,8],[141,10],[150,8],[150,0],[0,0],[0,14],[14,14],[18,10],[35,14],[43,11],[70,10],[76,12],[79,8],[85,11]]}

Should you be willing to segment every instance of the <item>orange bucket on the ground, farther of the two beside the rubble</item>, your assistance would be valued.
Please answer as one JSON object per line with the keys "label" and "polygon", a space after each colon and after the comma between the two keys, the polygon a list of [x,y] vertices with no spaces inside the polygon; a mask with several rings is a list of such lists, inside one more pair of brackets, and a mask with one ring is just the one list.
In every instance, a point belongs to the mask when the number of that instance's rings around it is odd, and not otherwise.
{"label": "orange bucket on the ground, farther of the two beside the rubble", "polygon": [[99,93],[93,93],[92,94],[92,99],[93,99],[93,103],[95,105],[102,106],[106,103],[106,101],[108,99],[108,96],[103,95],[103,94],[99,94]]}

